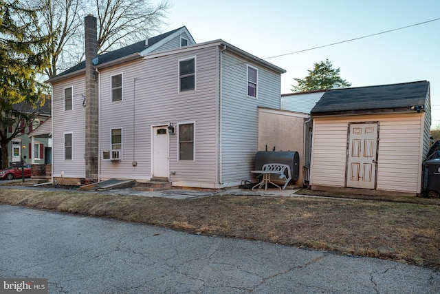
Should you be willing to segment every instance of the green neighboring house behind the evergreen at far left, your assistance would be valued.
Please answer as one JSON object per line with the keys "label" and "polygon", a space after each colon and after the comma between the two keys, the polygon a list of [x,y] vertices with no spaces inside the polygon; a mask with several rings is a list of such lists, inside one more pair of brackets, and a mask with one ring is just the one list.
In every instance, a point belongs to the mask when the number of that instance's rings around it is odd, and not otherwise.
{"label": "green neighboring house behind the evergreen at far left", "polygon": [[[35,112],[35,118],[28,123],[28,126],[23,128],[19,136],[12,138],[8,143],[8,160],[9,162],[20,161],[22,158],[25,163],[45,163],[45,155],[50,153],[47,151],[48,140],[47,138],[41,138],[39,140],[30,140],[28,134],[33,129],[38,127],[50,116],[50,101],[46,100],[45,105],[32,109],[32,107],[25,103],[19,103],[14,105],[16,110],[20,112],[32,113]],[[22,126],[25,126],[24,121],[21,122]],[[8,127],[8,137],[12,135],[14,128]]]}

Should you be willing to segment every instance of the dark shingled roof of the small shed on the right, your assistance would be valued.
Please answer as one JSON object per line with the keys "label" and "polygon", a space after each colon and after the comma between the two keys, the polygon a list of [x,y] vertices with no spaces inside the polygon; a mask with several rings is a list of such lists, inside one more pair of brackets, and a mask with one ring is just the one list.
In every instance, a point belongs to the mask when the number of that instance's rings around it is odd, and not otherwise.
{"label": "dark shingled roof of the small shed on the right", "polygon": [[428,81],[327,90],[311,109],[312,116],[408,111],[425,105]]}

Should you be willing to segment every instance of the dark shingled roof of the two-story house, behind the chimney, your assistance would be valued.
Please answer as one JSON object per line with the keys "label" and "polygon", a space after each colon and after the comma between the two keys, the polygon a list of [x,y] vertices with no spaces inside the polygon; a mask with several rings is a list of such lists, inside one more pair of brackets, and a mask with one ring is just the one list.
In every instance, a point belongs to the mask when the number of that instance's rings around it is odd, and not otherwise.
{"label": "dark shingled roof of the two-story house, behind the chimney", "polygon": [[[181,27],[184,28],[184,27]],[[151,38],[148,38],[148,45],[145,45],[145,40],[139,41],[137,43],[128,45],[126,47],[106,52],[104,54],[98,55],[98,63],[96,65],[101,65],[103,63],[107,63],[109,61],[113,61],[116,59],[120,59],[124,56],[129,56],[131,54],[140,53],[143,50],[145,50],[148,47],[151,47],[155,43],[161,41],[162,39],[165,39],[170,34],[173,34],[177,30],[180,30],[181,28],[177,28],[175,30],[172,30],[170,32],[165,32],[164,34],[159,34],[158,36],[153,36]],[[76,72],[77,70],[83,70],[85,69],[85,61],[78,63],[77,65],[74,65],[73,67],[70,67],[68,70],[65,70],[64,72],[61,72],[61,74],[58,74],[57,76],[63,76],[65,74],[70,74],[71,72]]]}

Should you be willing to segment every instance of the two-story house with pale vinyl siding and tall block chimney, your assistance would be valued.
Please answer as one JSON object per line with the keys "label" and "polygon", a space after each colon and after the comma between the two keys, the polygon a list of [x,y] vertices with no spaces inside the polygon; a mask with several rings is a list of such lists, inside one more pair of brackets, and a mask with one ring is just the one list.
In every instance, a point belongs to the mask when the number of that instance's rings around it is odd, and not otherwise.
{"label": "two-story house with pale vinyl siding and tall block chimney", "polygon": [[254,178],[258,107],[281,107],[285,70],[185,27],[96,56],[51,78],[54,182],[168,179],[219,189]]}

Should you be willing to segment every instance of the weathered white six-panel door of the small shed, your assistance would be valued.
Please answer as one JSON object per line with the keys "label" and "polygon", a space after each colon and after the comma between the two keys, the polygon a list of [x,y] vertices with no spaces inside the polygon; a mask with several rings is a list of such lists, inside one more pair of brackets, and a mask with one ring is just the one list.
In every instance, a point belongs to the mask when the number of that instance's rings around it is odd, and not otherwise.
{"label": "weathered white six-panel door of the small shed", "polygon": [[349,132],[347,187],[375,189],[377,123],[351,123]]}

